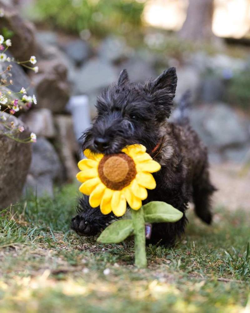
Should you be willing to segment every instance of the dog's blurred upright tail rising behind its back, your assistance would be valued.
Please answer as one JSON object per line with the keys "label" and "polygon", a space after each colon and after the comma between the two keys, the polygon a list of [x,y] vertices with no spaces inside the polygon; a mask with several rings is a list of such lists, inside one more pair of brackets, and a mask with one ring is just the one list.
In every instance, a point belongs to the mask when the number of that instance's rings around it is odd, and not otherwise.
{"label": "dog's blurred upright tail rising behind its back", "polygon": [[174,111],[174,120],[178,124],[189,123],[189,112],[191,108],[191,91],[186,90],[180,100],[180,103]]}

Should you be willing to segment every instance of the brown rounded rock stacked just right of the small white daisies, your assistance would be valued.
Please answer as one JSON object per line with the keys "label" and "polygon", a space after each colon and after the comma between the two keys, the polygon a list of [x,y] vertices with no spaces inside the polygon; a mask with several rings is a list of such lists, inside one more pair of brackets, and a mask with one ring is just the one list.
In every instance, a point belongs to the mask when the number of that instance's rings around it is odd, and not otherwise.
{"label": "brown rounded rock stacked just right of the small white daisies", "polygon": [[33,76],[37,108],[47,108],[54,113],[63,112],[69,99],[67,69],[57,60],[39,62],[39,73]]}

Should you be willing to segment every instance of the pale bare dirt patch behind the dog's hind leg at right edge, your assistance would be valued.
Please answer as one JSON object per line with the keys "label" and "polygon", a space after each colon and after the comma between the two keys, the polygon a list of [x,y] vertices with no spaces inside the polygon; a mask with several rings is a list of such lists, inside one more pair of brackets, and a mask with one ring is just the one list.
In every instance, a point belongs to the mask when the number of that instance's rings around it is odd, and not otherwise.
{"label": "pale bare dirt patch behind the dog's hind leg at right edge", "polygon": [[233,163],[213,164],[210,169],[211,180],[218,191],[213,196],[216,206],[228,210],[242,208],[250,211],[250,167]]}

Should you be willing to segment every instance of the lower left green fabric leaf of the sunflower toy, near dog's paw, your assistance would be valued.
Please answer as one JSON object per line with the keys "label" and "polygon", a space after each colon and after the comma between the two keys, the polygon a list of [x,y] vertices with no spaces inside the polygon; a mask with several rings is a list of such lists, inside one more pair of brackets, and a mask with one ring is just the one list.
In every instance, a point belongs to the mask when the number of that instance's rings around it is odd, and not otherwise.
{"label": "lower left green fabric leaf of the sunflower toy, near dog's paw", "polygon": [[133,230],[131,219],[116,221],[103,230],[97,241],[103,244],[118,244],[131,235]]}

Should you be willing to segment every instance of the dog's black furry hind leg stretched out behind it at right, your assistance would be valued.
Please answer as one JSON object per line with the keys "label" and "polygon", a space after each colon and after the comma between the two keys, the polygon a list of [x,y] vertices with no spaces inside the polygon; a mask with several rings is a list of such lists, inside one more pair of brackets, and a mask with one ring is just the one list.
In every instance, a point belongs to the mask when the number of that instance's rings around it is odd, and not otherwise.
{"label": "dog's black furry hind leg stretched out behind it at right", "polygon": [[196,215],[207,224],[212,223],[211,196],[214,191],[216,188],[210,182],[208,168],[204,167],[193,183],[193,202]]}

